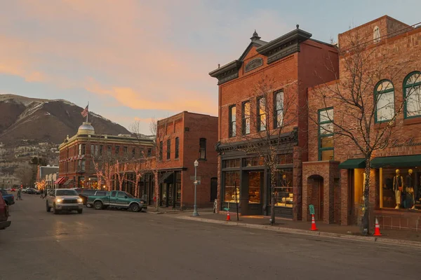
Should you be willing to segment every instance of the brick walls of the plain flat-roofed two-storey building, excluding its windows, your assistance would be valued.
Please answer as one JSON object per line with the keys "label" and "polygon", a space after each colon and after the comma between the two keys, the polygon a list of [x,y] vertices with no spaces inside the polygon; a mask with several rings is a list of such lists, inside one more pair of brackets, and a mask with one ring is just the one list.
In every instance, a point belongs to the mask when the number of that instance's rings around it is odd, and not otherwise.
{"label": "brick walls of the plain flat-roofed two-storey building, excluding its windows", "polygon": [[[215,144],[218,135],[218,118],[199,113],[183,111],[175,116],[159,120],[156,143],[163,141],[162,160],[158,163],[159,172],[180,172],[181,181],[178,185],[181,191],[180,201],[168,202],[168,207],[192,208],[194,204],[194,161],[198,160],[197,176],[201,184],[197,185],[196,201],[198,207],[211,207],[211,181],[218,178],[218,158]],[[178,138],[178,158],[175,158],[175,139]],[[200,155],[200,141],[206,139],[206,156]],[[167,160],[168,140],[170,141],[170,159]],[[168,181],[168,180],[167,180]],[[177,182],[175,182],[177,183]],[[176,184],[175,184],[176,185]],[[168,183],[161,182],[160,193],[168,192],[177,200],[177,191],[171,179]],[[216,191],[216,188],[215,190]],[[162,199],[162,195],[161,195]],[[175,203],[174,203],[175,202]],[[165,204],[166,202],[162,202]]]}

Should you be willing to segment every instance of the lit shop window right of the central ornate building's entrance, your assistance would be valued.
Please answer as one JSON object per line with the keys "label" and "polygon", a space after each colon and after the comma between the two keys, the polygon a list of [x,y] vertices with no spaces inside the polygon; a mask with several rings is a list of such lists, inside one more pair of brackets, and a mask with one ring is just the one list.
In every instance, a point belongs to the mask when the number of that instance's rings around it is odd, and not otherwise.
{"label": "lit shop window right of the central ornate building's entrance", "polygon": [[276,174],[275,206],[293,207],[293,169],[282,169]]}

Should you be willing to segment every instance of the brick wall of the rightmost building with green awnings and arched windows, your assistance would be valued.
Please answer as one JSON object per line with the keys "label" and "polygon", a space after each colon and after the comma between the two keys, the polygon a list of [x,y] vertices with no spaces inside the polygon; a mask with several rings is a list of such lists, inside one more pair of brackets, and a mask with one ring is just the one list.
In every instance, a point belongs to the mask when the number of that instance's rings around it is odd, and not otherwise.
{"label": "brick wall of the rightmost building with green awnings and arched windows", "polygon": [[[379,27],[380,29],[380,38],[378,39],[377,43],[373,42],[373,30],[375,30],[376,27]],[[398,110],[400,106],[399,104],[402,104],[403,102],[404,79],[409,73],[413,71],[421,71],[421,29],[410,27],[402,22],[399,22],[398,20],[384,16],[382,18],[378,18],[377,20],[373,20],[372,22],[368,22],[365,25],[361,25],[361,27],[356,27],[343,34],[339,34],[340,48],[342,50],[349,48],[350,45],[348,38],[356,34],[360,36],[360,38],[365,39],[366,46],[363,51],[373,52],[374,59],[371,66],[373,69],[378,69],[379,73],[382,73],[382,75],[378,77],[378,80],[392,77],[389,79],[392,81],[394,87],[395,110]],[[349,51],[352,52],[352,50]],[[338,195],[335,195],[334,197],[338,197],[338,201],[340,201],[339,214],[335,214],[333,219],[331,219],[331,217],[327,219],[326,216],[323,216],[323,221],[325,223],[340,223],[342,225],[359,223],[361,203],[359,202],[359,194],[356,192],[356,190],[354,190],[353,182],[357,179],[357,176],[360,176],[357,173],[361,173],[362,169],[341,169],[340,172],[334,172],[334,175],[326,173],[326,170],[328,167],[337,166],[338,162],[345,162],[345,160],[349,158],[362,158],[362,156],[358,152],[356,146],[347,140],[346,137],[335,137],[333,144],[335,151],[335,162],[317,162],[319,160],[319,130],[318,125],[314,123],[314,120],[317,120],[317,112],[319,109],[325,109],[332,106],[334,110],[335,122],[337,120],[348,122],[347,125],[349,125],[349,122],[352,122],[352,118],[347,118],[345,112],[341,111],[339,102],[335,102],[334,99],[327,99],[330,101],[330,103],[323,104],[321,99],[317,98],[317,92],[324,90],[326,94],[330,94],[329,90],[327,90],[328,87],[335,86],[339,83],[342,84],[343,81],[347,79],[345,62],[348,55],[349,54],[342,52],[339,57],[340,73],[338,80],[309,88],[309,162],[305,162],[303,164],[302,175],[303,182],[308,182],[309,179],[313,178],[312,176],[322,176],[323,190],[325,192],[326,189],[330,190],[330,188],[335,188],[335,186],[338,184]],[[377,81],[375,81],[375,83],[377,83]],[[342,92],[344,92],[343,87]],[[369,92],[369,94],[373,94],[372,92],[374,92],[374,88],[368,90],[367,92]],[[366,106],[373,106],[373,104],[368,102]],[[373,131],[371,134],[375,134],[380,126],[381,125],[373,125]],[[403,112],[399,113],[396,117],[395,125],[392,129],[389,145],[387,148],[375,151],[373,158],[397,155],[420,155],[420,145],[405,145],[405,143],[408,143],[408,139],[412,139],[413,144],[419,144],[421,142],[421,137],[419,134],[420,130],[420,117],[405,118]],[[322,165],[323,168],[319,169],[320,165]],[[415,168],[416,167],[414,166],[414,170]],[[396,209],[395,211],[395,209],[382,210],[380,207],[380,200],[383,199],[383,197],[380,197],[380,182],[382,181],[380,172],[381,169],[372,169],[372,173],[370,174],[370,209],[375,209],[374,211],[370,211],[370,214],[372,214],[372,219],[370,221],[373,221],[374,215],[376,215],[382,217],[382,221],[380,221],[380,223],[393,223],[386,222],[392,220],[394,221],[395,225],[400,222],[403,223],[404,221],[399,219],[406,218],[408,209]],[[340,178],[338,183],[335,182],[336,178]],[[334,186],[331,186],[332,182],[334,182]],[[307,188],[307,190],[305,190],[305,188]],[[312,191],[312,186],[305,186],[303,183],[303,197],[305,197],[305,195],[309,195],[309,197],[307,197],[307,203],[318,203],[314,199],[314,195],[316,194],[312,194]],[[303,220],[307,221],[308,216],[306,217],[305,213],[308,212],[308,209],[306,209],[308,208],[308,205],[305,205],[303,202],[302,206]],[[323,209],[323,211],[326,212],[326,209]],[[389,218],[389,220],[388,218],[383,217],[384,214]],[[408,215],[411,216],[413,214]]]}

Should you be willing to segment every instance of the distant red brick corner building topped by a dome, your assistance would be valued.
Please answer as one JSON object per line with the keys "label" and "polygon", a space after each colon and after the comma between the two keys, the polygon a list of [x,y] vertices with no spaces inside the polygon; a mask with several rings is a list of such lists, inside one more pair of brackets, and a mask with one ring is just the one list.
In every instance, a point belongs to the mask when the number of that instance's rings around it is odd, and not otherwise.
{"label": "distant red brick corner building topped by a dome", "polygon": [[139,155],[140,149],[152,154],[154,139],[132,135],[95,134],[91,123],[83,123],[76,135],[60,144],[59,178],[55,181],[62,188],[100,188],[93,167],[92,155],[108,153],[121,158]]}

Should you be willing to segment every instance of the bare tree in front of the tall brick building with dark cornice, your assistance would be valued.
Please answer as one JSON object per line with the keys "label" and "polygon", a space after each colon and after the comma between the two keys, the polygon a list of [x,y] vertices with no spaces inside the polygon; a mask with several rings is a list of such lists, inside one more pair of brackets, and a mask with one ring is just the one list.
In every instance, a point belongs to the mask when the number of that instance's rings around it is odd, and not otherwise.
{"label": "bare tree in front of the tall brick building with dark cornice", "polygon": [[[253,87],[252,102],[242,105],[241,136],[245,144],[233,144],[233,148],[257,155],[270,174],[270,225],[275,224],[275,206],[279,191],[276,188],[279,165],[292,160],[293,144],[286,143],[288,132],[293,133],[298,121],[298,83],[286,83],[282,90],[276,90],[275,80],[263,76]],[[256,110],[251,109],[252,104]],[[252,127],[257,129],[253,133]],[[234,127],[230,128],[235,129]],[[238,133],[236,133],[238,134]],[[291,162],[292,163],[292,162]],[[286,186],[283,186],[286,190]],[[265,186],[266,188],[266,186]],[[282,197],[288,200],[288,197]]]}

